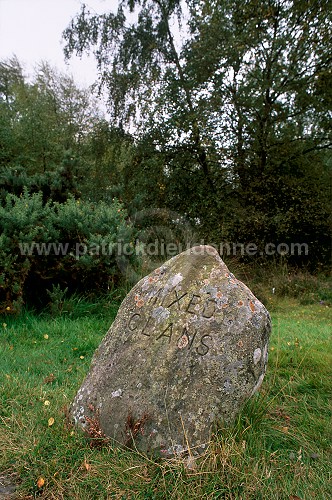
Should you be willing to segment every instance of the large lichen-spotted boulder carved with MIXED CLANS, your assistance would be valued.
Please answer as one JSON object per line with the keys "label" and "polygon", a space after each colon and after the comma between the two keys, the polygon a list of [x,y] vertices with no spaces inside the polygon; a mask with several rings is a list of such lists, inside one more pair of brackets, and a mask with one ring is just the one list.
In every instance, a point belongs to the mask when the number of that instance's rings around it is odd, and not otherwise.
{"label": "large lichen-spotted boulder carved with MIXED CLANS", "polygon": [[164,456],[197,452],[260,387],[270,316],[210,246],[141,279],[71,406],[81,427]]}

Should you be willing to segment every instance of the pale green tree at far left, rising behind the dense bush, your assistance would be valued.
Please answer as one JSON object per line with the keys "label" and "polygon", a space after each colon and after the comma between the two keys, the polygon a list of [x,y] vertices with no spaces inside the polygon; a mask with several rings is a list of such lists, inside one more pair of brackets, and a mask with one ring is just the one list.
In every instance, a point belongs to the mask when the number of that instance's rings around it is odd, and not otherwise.
{"label": "pale green tree at far left, rising behind the dense bush", "polygon": [[[31,81],[16,59],[0,65],[0,189],[20,195],[24,186],[63,201],[79,195],[83,149],[101,119],[88,90],[41,63]],[[86,172],[84,172],[86,174]]]}

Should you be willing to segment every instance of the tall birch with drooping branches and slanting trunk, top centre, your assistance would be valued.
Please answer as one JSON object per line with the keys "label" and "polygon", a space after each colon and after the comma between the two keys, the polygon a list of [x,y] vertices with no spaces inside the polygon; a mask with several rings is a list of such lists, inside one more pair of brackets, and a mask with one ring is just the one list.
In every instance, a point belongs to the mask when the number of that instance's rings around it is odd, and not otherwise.
{"label": "tall birch with drooping branches and slanting trunk, top centre", "polygon": [[[180,171],[184,176],[195,176],[197,205],[205,205],[209,211],[210,203],[204,193],[212,192],[218,199],[224,172],[211,172],[214,144],[202,133],[200,109],[177,49],[173,25],[176,19],[181,19],[180,1],[144,1],[139,6],[137,22],[128,25],[126,15],[134,14],[138,5],[121,1],[116,14],[100,16],[90,14],[83,5],[81,13],[64,32],[65,54],[81,55],[94,48],[100,88],[107,87],[113,123],[129,127],[134,124],[141,132],[140,142],[146,152],[139,155],[137,172],[150,167],[148,175],[155,178],[152,169],[159,161],[164,172]],[[161,182],[165,189],[172,189],[172,185],[169,176],[165,183]],[[188,203],[184,207],[183,201],[182,196],[177,200],[192,218],[197,217],[197,209],[192,210]]]}

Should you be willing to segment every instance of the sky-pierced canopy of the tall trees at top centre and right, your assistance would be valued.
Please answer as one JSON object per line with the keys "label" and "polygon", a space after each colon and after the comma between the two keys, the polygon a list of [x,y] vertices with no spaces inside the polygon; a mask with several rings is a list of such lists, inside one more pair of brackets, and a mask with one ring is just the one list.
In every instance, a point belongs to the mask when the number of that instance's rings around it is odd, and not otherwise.
{"label": "sky-pierced canopy of the tall trees at top centre and right", "polygon": [[203,142],[219,153],[236,144],[241,158],[254,146],[258,168],[270,129],[282,139],[293,126],[298,140],[314,132],[312,147],[329,145],[328,2],[188,0],[187,9],[179,48],[179,1],[120,1],[103,15],[83,5],[65,31],[67,56],[94,50],[114,120],[156,127],[164,144],[191,138],[198,152]]}

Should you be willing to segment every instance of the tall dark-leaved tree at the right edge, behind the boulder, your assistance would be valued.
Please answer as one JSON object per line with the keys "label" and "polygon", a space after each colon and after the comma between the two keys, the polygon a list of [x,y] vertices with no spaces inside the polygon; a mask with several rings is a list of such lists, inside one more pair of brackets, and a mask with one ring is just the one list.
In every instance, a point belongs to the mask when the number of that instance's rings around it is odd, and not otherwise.
{"label": "tall dark-leaved tree at the right edge, behind the boulder", "polygon": [[327,2],[192,2],[190,27],[190,71],[210,89],[211,133],[224,145],[238,184],[233,237],[302,238],[317,254],[322,246],[326,252],[331,165],[325,151],[332,147]]}

